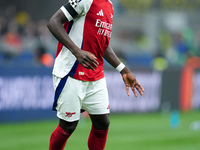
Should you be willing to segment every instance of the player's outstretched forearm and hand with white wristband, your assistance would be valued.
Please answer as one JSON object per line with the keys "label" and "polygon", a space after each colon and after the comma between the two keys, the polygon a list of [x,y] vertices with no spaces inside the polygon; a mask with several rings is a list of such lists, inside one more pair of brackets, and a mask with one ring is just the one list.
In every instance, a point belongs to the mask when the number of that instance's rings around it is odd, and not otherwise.
{"label": "player's outstretched forearm and hand with white wristband", "polygon": [[140,93],[140,95],[143,95],[144,88],[142,87],[142,85],[137,81],[135,75],[121,63],[121,61],[116,56],[116,54],[114,53],[113,49],[110,46],[108,46],[108,48],[106,49],[103,57],[110,65],[116,68],[122,75],[128,96],[130,95],[129,88],[132,89],[135,97],[138,96],[136,90]]}

